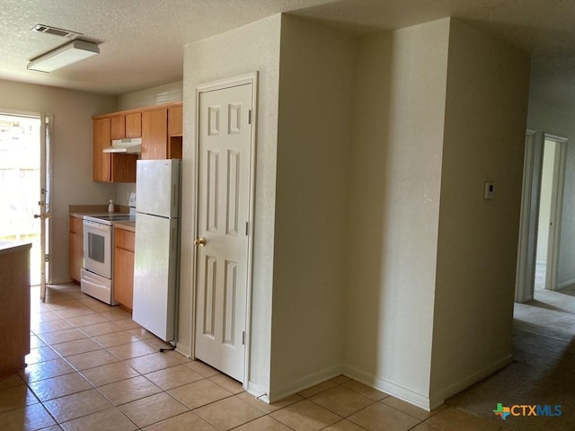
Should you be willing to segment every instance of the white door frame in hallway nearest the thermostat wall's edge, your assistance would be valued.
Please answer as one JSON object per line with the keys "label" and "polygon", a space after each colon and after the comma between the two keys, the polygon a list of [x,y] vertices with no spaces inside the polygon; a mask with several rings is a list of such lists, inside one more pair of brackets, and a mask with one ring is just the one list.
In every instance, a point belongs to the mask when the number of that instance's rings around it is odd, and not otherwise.
{"label": "white door frame in hallway nearest the thermostat wall's edge", "polygon": [[517,245],[517,275],[515,301],[527,303],[533,299],[535,289],[535,250],[539,210],[539,191],[535,187],[535,130],[527,129],[523,162],[523,189],[519,243]]}

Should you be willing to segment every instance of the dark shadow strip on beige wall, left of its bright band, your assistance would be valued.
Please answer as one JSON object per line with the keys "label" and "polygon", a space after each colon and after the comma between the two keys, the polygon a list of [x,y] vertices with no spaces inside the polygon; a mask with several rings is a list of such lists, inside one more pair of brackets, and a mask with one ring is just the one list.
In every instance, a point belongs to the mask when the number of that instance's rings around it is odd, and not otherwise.
{"label": "dark shadow strip on beige wall, left of its bright band", "polygon": [[[376,45],[376,47],[372,46]],[[363,40],[358,55],[353,143],[350,145],[349,262],[344,363],[356,376],[379,374],[385,344],[385,207],[392,189],[388,146],[391,119],[391,37]],[[380,55],[373,56],[374,50]],[[353,330],[349,330],[353,328]],[[367,374],[367,375],[366,375]],[[367,382],[375,383],[375,382]]]}

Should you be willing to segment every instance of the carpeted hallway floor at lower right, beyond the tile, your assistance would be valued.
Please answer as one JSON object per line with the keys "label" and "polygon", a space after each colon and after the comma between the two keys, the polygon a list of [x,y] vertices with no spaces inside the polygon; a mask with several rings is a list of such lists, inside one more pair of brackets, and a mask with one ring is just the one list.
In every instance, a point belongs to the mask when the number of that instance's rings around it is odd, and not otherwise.
{"label": "carpeted hallway floor at lower right, beyond the tile", "polygon": [[[538,279],[544,279],[538,274]],[[575,430],[575,286],[562,292],[535,285],[535,300],[516,303],[513,363],[447,400],[517,431]],[[561,405],[560,417],[513,417],[492,410],[513,405]]]}

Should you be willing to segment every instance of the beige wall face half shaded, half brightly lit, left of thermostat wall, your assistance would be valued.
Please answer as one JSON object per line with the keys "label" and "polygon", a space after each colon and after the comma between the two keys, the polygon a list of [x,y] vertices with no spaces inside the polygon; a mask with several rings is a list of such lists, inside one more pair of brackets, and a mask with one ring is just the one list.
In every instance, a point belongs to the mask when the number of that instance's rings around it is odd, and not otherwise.
{"label": "beige wall face half shaded, half brightly lit, left of thermostat wall", "polygon": [[351,147],[346,371],[426,407],[449,20],[362,40]]}

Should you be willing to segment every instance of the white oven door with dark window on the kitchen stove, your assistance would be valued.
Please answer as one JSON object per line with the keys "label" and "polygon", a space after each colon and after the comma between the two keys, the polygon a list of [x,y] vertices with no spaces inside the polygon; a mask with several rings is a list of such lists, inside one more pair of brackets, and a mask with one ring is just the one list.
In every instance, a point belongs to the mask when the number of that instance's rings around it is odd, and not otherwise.
{"label": "white oven door with dark window on the kitchen stove", "polygon": [[84,220],[84,268],[110,279],[111,233],[109,225]]}

